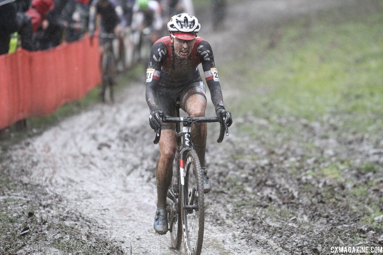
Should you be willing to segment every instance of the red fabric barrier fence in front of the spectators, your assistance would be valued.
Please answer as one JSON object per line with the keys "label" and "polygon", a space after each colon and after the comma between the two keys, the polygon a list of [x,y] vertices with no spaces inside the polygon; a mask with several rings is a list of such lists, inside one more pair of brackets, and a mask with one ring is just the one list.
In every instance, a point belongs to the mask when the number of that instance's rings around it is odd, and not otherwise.
{"label": "red fabric barrier fence in front of the spectators", "polygon": [[94,39],[93,45],[86,36],[51,50],[0,55],[0,129],[49,115],[97,86],[100,56]]}

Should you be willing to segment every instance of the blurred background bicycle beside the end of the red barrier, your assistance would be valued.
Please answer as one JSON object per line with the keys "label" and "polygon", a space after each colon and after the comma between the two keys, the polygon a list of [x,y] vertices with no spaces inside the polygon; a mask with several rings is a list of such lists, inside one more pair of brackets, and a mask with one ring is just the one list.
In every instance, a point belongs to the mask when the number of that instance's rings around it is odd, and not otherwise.
{"label": "blurred background bicycle beside the end of the red barrier", "polygon": [[110,100],[114,102],[113,85],[115,84],[116,76],[116,58],[113,53],[113,41],[117,39],[117,36],[113,33],[101,33],[99,37],[105,41],[103,44],[105,50],[101,56],[102,83],[100,96],[101,100],[105,102],[106,87],[109,87]]}

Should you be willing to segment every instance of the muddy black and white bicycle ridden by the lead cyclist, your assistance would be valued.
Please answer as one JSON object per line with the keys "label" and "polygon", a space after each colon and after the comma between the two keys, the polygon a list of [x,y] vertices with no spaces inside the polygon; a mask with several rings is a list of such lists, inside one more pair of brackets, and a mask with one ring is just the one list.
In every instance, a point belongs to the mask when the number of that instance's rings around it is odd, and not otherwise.
{"label": "muddy black and white bicycle ridden by the lead cyclist", "polygon": [[[176,123],[177,149],[173,161],[173,176],[167,192],[167,213],[170,240],[174,249],[179,249],[182,240],[185,254],[201,254],[205,224],[205,198],[202,171],[198,155],[190,139],[190,127],[196,122],[219,122],[217,117],[179,117],[180,104],[176,103],[176,117],[160,113],[163,122]],[[221,122],[218,143],[226,132],[229,135],[226,116]],[[181,131],[180,123],[183,123]],[[161,129],[157,130],[154,144],[160,140]]]}

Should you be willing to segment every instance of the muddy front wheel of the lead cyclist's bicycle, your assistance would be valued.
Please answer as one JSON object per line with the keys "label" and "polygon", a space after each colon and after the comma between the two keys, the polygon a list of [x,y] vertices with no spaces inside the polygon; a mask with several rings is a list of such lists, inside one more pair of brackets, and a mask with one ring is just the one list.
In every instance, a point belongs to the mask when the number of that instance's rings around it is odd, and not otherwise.
{"label": "muddy front wheel of the lead cyclist's bicycle", "polygon": [[205,224],[201,164],[195,151],[189,151],[184,162],[185,179],[182,187],[181,208],[183,243],[186,254],[199,255],[202,249]]}

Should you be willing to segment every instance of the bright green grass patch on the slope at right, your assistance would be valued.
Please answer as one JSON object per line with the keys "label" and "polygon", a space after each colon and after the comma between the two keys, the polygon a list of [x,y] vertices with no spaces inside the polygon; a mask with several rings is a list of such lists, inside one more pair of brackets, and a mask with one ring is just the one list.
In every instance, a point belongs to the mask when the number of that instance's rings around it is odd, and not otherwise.
{"label": "bright green grass patch on the slope at right", "polygon": [[[345,130],[366,131],[383,116],[383,14],[335,24],[334,15],[291,21],[273,49],[250,45],[236,64],[248,84],[240,114],[295,116],[309,121],[326,115],[347,118]],[[256,49],[258,47],[259,49]],[[266,53],[265,53],[266,49]],[[261,63],[255,60],[262,59]],[[248,68],[252,66],[254,68]],[[382,130],[382,126],[378,127]]]}

